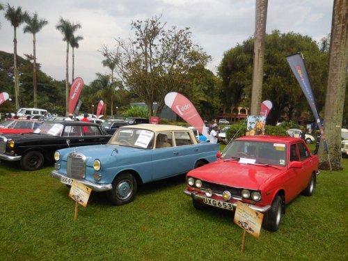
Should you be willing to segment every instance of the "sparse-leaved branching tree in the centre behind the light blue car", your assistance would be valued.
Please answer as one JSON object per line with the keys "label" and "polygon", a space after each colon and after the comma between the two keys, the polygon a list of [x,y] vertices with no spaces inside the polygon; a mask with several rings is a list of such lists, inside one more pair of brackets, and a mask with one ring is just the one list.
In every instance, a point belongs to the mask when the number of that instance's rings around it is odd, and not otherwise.
{"label": "sparse-leaved branching tree in the centre behind the light blue car", "polygon": [[168,92],[184,90],[187,74],[197,65],[205,66],[209,56],[191,41],[189,28],[164,29],[161,17],[132,22],[135,38],[116,39],[118,57],[116,72],[132,93],[147,104],[153,116],[153,102],[157,102],[155,114],[164,107]]}

